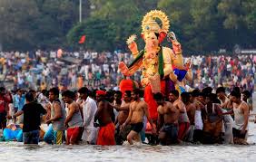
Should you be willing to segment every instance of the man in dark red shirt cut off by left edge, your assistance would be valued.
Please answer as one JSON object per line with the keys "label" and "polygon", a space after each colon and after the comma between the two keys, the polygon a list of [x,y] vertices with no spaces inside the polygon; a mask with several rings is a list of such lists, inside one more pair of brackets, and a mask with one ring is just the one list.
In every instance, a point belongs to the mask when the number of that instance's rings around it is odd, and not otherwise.
{"label": "man in dark red shirt cut off by left edge", "polygon": [[6,97],[5,87],[0,87],[0,129],[5,129],[6,127],[6,115],[9,114],[8,104],[11,102],[12,98]]}

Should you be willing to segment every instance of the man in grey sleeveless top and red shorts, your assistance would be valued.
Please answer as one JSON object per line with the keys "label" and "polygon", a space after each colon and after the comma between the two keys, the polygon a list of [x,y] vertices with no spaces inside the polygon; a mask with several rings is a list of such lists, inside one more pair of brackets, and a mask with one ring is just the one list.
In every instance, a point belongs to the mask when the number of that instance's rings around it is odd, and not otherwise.
{"label": "man in grey sleeveless top and red shorts", "polygon": [[74,101],[75,94],[73,91],[64,91],[63,100],[67,103],[68,114],[64,125],[68,128],[66,133],[66,145],[78,144],[80,131],[83,127],[79,104]]}

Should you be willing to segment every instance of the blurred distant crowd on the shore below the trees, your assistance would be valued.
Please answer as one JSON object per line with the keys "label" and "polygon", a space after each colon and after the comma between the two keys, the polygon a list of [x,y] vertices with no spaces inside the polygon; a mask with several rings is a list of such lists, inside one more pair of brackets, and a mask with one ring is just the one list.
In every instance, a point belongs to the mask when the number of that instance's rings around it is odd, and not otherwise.
{"label": "blurred distant crowd on the shore below the trees", "polygon": [[[64,59],[66,58],[66,59]],[[185,57],[185,60],[189,57]],[[74,60],[81,62],[77,63]],[[59,87],[63,90],[88,88],[117,90],[123,75],[118,63],[131,63],[133,56],[127,52],[0,52],[1,81],[10,87],[44,90]],[[240,87],[251,93],[254,90],[256,55],[198,55],[192,59],[192,88],[217,88],[227,91]],[[140,82],[140,71],[133,80]]]}

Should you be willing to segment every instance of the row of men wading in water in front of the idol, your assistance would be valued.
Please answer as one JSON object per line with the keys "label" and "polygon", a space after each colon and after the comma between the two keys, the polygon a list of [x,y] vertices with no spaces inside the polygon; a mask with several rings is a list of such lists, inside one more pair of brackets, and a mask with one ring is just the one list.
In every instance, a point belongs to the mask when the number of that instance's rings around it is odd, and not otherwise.
{"label": "row of men wading in water in front of the idol", "polygon": [[[38,144],[123,145],[145,142],[171,145],[247,144],[251,105],[249,91],[211,87],[190,92],[155,93],[158,119],[150,119],[143,91],[89,90],[60,92],[18,89],[11,94],[0,88],[3,140]],[[8,121],[7,121],[8,120]],[[7,121],[7,127],[6,127]],[[48,127],[40,127],[41,121]],[[15,129],[14,129],[15,128]],[[18,132],[16,132],[18,130]],[[66,133],[65,133],[66,132]]]}

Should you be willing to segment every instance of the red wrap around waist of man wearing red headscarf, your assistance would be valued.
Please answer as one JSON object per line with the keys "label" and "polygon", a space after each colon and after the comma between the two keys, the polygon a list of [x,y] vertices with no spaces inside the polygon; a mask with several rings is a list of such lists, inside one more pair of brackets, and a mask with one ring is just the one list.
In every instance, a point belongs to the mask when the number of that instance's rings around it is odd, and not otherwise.
{"label": "red wrap around waist of man wearing red headscarf", "polygon": [[97,145],[115,145],[114,129],[113,122],[108,123],[106,126],[100,127]]}

